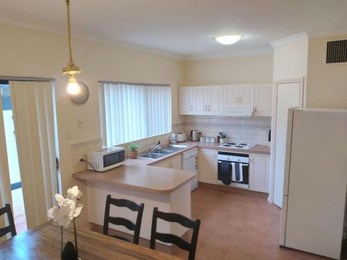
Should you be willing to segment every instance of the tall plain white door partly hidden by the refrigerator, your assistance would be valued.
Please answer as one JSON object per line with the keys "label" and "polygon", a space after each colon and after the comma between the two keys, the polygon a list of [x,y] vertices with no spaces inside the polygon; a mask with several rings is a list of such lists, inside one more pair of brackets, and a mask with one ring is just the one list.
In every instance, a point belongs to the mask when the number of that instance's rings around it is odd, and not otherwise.
{"label": "tall plain white door partly hidden by the refrigerator", "polygon": [[287,141],[288,109],[301,107],[303,87],[301,81],[276,84],[275,147],[273,166],[273,203],[282,208],[285,180],[285,147]]}

